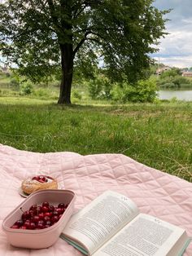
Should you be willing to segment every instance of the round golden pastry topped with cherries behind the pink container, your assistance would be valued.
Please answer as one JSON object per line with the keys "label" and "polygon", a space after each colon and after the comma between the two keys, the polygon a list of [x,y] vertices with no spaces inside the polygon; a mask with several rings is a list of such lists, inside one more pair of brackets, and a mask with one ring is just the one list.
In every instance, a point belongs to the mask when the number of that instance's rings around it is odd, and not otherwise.
{"label": "round golden pastry topped with cherries behind the pink container", "polygon": [[24,179],[21,183],[21,189],[26,194],[31,194],[41,189],[57,189],[58,183],[56,179],[46,175],[37,175],[33,178]]}

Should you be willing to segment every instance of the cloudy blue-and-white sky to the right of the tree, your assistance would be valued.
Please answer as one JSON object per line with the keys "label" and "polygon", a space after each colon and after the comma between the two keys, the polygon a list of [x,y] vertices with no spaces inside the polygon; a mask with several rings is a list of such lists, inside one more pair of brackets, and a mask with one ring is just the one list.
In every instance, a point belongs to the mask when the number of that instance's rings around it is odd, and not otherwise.
{"label": "cloudy blue-and-white sky to the right of the tree", "polygon": [[165,17],[169,34],[160,39],[155,60],[170,67],[192,67],[192,0],[155,0],[159,10],[172,9]]}

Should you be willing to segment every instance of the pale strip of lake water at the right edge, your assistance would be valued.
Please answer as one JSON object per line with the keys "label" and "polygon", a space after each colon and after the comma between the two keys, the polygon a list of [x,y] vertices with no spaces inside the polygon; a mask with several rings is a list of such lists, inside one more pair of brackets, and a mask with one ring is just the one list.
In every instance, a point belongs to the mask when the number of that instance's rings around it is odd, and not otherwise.
{"label": "pale strip of lake water at the right edge", "polygon": [[192,90],[159,90],[159,99],[172,99],[192,101]]}

